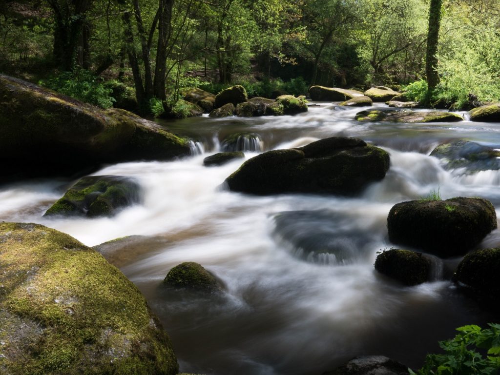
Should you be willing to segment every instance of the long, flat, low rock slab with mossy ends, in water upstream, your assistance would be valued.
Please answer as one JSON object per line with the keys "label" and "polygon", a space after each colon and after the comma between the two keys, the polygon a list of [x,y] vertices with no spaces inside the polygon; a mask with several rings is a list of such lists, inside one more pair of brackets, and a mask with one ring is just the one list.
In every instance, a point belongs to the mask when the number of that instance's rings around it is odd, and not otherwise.
{"label": "long, flat, low rock slab with mossy ends, in water upstream", "polygon": [[452,112],[441,111],[411,111],[402,110],[367,110],[356,113],[354,118],[357,121],[385,121],[401,123],[426,123],[426,122],[456,122],[462,121],[462,116]]}

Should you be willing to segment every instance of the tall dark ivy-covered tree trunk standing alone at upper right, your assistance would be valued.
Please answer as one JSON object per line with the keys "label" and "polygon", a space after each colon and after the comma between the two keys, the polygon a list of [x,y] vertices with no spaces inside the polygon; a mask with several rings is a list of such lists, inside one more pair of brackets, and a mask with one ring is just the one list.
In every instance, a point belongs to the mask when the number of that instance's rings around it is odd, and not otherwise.
{"label": "tall dark ivy-covered tree trunk standing alone at upper right", "polygon": [[427,93],[425,104],[430,103],[439,75],[437,74],[437,42],[439,39],[439,24],[441,22],[442,0],[430,0],[429,5],[429,28],[427,32],[427,50],[425,53],[425,75],[427,78]]}

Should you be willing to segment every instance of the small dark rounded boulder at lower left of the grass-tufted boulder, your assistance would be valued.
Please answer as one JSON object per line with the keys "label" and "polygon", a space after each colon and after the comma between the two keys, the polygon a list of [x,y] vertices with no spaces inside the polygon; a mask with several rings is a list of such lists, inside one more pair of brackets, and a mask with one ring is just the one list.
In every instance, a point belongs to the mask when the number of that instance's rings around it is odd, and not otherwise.
{"label": "small dark rounded boulder at lower left of the grass-tufted boulder", "polygon": [[408,286],[428,281],[430,266],[421,253],[400,249],[385,250],[375,260],[375,270]]}

